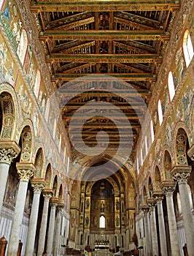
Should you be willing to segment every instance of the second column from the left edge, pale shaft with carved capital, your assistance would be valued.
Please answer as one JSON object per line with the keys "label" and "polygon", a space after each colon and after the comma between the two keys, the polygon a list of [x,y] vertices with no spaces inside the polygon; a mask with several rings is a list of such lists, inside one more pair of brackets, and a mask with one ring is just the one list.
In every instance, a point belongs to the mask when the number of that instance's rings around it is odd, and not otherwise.
{"label": "second column from the left edge, pale shaft with carved capital", "polygon": [[15,204],[14,219],[12,222],[12,229],[9,236],[9,244],[7,256],[15,256],[18,252],[18,244],[20,240],[20,227],[23,220],[23,211],[26,203],[26,193],[28,189],[28,181],[34,175],[35,167],[32,163],[18,162],[16,164],[18,174],[20,177],[20,184],[18,188],[18,195]]}

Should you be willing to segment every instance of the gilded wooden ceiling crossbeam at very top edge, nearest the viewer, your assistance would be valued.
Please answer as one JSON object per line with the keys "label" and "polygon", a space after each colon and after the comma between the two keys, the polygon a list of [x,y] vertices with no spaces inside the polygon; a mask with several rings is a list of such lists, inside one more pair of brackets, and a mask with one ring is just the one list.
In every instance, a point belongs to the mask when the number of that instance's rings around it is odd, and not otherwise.
{"label": "gilded wooden ceiling crossbeam at very top edge, nearest the viewer", "polygon": [[92,1],[65,1],[65,0],[36,0],[31,4],[32,12],[96,12],[106,11],[148,11],[171,10],[180,7],[180,1],[166,0],[92,0]]}

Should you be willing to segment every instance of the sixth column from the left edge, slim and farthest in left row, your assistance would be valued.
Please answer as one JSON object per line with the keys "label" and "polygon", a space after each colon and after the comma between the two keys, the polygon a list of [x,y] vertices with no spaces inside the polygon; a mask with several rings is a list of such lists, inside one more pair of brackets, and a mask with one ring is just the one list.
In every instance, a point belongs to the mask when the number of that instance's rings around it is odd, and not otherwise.
{"label": "sixth column from the left edge, slim and farthest in left row", "polygon": [[62,219],[63,206],[60,204],[57,208],[57,217],[55,225],[55,239],[54,239],[54,256],[60,255],[60,242],[61,242],[61,219]]}

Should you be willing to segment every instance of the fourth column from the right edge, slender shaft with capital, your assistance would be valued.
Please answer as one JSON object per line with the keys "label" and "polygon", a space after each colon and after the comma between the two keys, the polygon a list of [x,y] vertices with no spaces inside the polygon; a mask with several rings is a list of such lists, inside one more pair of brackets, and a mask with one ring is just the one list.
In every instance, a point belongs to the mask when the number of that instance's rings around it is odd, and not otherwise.
{"label": "fourth column from the right edge, slender shaft with capital", "polygon": [[152,236],[152,255],[158,255],[158,234],[155,221],[155,199],[150,197],[147,199],[147,205],[150,207],[150,227]]}

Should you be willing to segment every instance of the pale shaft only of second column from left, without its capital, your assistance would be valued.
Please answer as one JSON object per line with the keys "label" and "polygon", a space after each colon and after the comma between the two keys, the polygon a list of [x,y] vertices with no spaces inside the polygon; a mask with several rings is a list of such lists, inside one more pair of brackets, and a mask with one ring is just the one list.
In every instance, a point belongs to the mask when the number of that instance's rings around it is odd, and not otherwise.
{"label": "pale shaft only of second column from left, without its capital", "polygon": [[20,240],[20,228],[22,225],[23,211],[26,202],[26,193],[28,189],[28,181],[21,181],[18,188],[18,195],[15,204],[14,219],[9,237],[7,256],[15,256],[18,252],[18,244]]}

